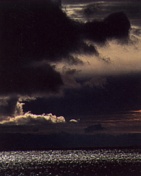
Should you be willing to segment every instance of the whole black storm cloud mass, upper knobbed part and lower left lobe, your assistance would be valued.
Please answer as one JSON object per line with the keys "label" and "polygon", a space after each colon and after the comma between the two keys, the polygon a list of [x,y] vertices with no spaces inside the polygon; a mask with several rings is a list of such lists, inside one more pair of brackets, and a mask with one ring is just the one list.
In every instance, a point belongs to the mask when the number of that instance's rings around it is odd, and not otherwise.
{"label": "whole black storm cloud mass, upper knobbed part and lower left lobe", "polygon": [[[83,63],[72,54],[98,54],[84,39],[120,38],[128,35],[129,28],[123,13],[101,22],[81,24],[70,20],[51,1],[0,1],[0,96],[18,100],[19,96],[57,93],[63,79],[50,62],[65,59],[70,64]],[[34,65],[43,60],[47,64]],[[10,114],[16,103],[7,104],[10,110],[4,108]]]}

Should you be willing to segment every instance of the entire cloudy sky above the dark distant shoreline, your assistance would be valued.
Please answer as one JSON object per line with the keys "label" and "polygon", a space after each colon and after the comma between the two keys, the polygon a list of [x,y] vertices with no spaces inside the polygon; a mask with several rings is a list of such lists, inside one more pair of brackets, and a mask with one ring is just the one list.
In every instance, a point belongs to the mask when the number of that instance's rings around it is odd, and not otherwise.
{"label": "entire cloudy sky above the dark distant shoreline", "polygon": [[138,4],[1,0],[0,124],[140,133]]}

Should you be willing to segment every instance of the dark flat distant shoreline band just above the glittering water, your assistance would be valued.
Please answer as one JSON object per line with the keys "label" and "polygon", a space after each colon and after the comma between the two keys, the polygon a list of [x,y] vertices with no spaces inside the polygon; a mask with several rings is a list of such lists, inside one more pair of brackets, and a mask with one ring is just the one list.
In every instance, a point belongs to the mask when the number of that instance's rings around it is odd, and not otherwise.
{"label": "dark flat distant shoreline band just above the glittering water", "polygon": [[[0,151],[140,150],[140,134],[0,134]],[[141,151],[140,151],[141,152]]]}

